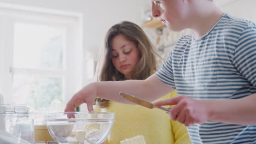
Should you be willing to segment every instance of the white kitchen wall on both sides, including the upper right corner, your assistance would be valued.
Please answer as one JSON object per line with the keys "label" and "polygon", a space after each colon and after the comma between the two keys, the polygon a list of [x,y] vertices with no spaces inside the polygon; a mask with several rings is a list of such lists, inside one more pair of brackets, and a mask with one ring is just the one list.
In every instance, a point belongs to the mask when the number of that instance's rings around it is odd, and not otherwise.
{"label": "white kitchen wall on both sides, including the upper right corner", "polygon": [[[226,13],[256,22],[255,0],[214,0]],[[128,20],[142,24],[142,10],[149,0],[0,0],[0,3],[57,9],[83,14],[83,49],[98,54],[108,28]]]}

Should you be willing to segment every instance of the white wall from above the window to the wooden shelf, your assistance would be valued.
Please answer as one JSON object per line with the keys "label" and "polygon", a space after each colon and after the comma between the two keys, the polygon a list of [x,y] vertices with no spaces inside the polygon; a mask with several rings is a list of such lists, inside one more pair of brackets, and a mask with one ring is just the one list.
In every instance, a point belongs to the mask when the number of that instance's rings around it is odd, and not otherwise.
{"label": "white wall from above the window to the wooden shelf", "polygon": [[97,52],[107,29],[117,22],[128,20],[142,23],[141,11],[149,0],[0,0],[41,8],[67,10],[84,15],[84,50]]}

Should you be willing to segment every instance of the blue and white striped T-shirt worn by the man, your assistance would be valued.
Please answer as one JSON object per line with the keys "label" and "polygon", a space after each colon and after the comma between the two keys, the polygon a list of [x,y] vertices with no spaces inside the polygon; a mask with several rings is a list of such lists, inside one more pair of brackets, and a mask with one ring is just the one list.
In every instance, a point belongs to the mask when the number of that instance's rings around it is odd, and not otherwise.
{"label": "blue and white striped T-shirt worn by the man", "polygon": [[[239,99],[256,93],[256,25],[224,14],[199,40],[182,37],[156,75],[178,95],[198,100]],[[252,125],[209,121],[188,131],[193,143],[256,143]]]}

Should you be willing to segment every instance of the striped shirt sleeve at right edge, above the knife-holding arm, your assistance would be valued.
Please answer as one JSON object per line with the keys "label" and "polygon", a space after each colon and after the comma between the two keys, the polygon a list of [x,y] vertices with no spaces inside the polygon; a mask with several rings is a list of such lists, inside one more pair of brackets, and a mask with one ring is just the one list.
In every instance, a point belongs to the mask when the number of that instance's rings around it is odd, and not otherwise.
{"label": "striped shirt sleeve at right edge, above the knife-holding arm", "polygon": [[243,30],[234,51],[233,62],[238,71],[256,87],[256,26]]}

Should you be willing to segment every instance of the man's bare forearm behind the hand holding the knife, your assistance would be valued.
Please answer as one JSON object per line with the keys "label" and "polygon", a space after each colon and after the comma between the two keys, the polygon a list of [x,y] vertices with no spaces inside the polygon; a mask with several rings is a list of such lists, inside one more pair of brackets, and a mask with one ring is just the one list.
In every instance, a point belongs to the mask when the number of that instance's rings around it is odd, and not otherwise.
{"label": "man's bare forearm behind the hand holding the knife", "polygon": [[256,125],[256,93],[241,99],[211,101],[209,120],[241,125]]}

